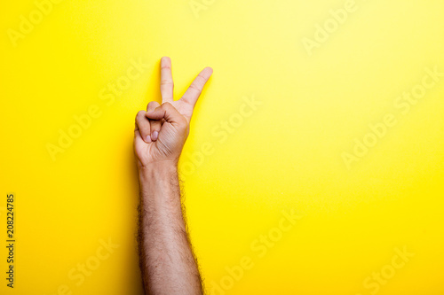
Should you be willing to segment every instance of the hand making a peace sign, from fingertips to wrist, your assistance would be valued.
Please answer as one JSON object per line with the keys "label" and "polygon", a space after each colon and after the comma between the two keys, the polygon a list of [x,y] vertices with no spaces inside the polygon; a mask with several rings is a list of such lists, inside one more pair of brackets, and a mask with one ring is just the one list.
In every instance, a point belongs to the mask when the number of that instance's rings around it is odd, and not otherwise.
{"label": "hand making a peace sign, from fingertips to wrist", "polygon": [[177,165],[189,134],[194,105],[212,73],[210,67],[205,67],[185,94],[174,101],[171,60],[167,57],[161,59],[162,105],[152,101],[147,105],[147,112],[139,111],[136,116],[134,151],[139,167],[162,162]]}

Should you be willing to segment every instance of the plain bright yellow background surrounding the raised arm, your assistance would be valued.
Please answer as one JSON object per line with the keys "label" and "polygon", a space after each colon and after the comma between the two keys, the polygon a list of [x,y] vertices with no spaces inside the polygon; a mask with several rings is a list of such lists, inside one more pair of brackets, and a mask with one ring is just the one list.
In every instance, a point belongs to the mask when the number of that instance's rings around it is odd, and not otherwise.
{"label": "plain bright yellow background surrounding the raised arm", "polygon": [[[414,252],[378,294],[444,293],[444,78],[406,115],[393,102],[444,72],[444,3],[356,1],[356,11],[308,55],[330,9],[346,1],[72,1],[52,10],[14,47],[8,29],[33,1],[0,6],[1,294],[141,294],[135,232],[134,116],[160,98],[159,61],[170,56],[175,95],[212,66],[180,167],[190,235],[207,288],[244,256],[254,266],[224,294],[370,294],[364,280]],[[148,68],[107,105],[99,92]],[[242,97],[262,105],[241,126]],[[52,160],[59,129],[98,105],[100,116]],[[347,169],[343,152],[393,113],[398,123]],[[188,158],[186,158],[188,157]],[[185,164],[188,163],[188,164]],[[197,163],[197,164],[195,164]],[[15,288],[6,288],[6,194],[16,202]],[[251,248],[279,225],[282,209],[304,217],[264,257]],[[119,245],[80,286],[68,277],[100,240]],[[217,291],[213,292],[218,294]]]}

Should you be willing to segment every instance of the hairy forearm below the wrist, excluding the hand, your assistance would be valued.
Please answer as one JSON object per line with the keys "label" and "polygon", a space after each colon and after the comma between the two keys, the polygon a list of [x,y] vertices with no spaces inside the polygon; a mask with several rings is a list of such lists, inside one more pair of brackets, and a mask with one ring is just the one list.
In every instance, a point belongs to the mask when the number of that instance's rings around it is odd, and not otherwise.
{"label": "hairy forearm below the wrist, excluding the hand", "polygon": [[202,294],[186,234],[177,166],[139,167],[140,268],[147,294]]}

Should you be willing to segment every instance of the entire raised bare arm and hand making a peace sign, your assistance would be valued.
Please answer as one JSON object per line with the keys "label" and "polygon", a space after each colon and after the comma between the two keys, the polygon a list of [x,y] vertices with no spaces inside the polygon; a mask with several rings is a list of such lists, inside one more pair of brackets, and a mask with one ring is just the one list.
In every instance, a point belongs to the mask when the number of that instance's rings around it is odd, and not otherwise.
{"label": "entire raised bare arm and hand making a peace sign", "polygon": [[210,67],[204,68],[185,94],[174,101],[171,60],[162,58],[162,105],[152,101],[147,111],[136,116],[140,268],[146,294],[203,294],[182,211],[178,159],[189,134],[194,105],[212,72]]}

